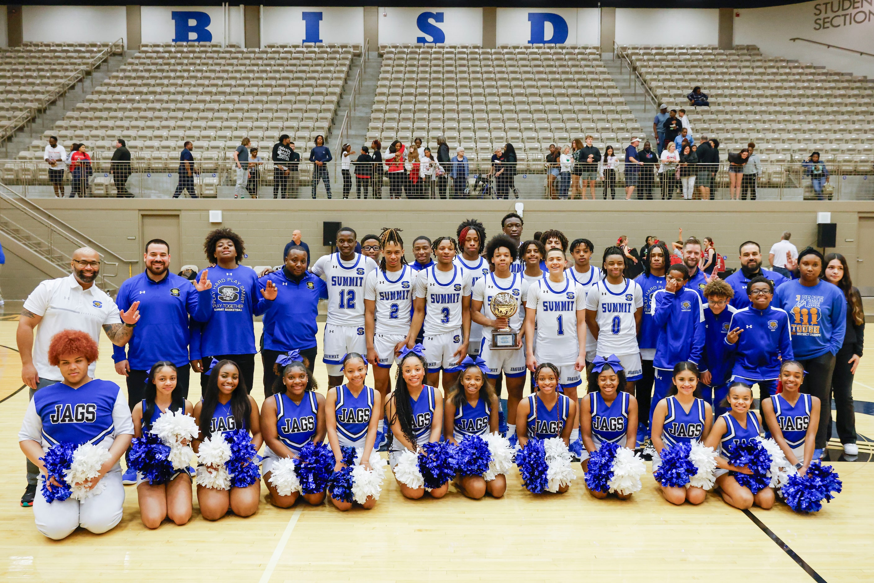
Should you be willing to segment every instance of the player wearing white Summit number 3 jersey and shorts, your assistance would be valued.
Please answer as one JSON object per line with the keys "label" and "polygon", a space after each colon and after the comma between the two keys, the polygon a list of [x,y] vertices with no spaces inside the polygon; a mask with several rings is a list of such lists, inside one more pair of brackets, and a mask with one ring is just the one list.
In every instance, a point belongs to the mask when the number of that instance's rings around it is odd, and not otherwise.
{"label": "player wearing white Summit number 3 jersey and shorts", "polygon": [[458,243],[452,237],[434,239],[437,262],[416,277],[413,323],[409,348],[424,324],[423,346],[428,385],[437,386],[443,371],[443,390],[448,392],[458,377],[459,363],[468,354],[470,340],[470,276],[455,262]]}

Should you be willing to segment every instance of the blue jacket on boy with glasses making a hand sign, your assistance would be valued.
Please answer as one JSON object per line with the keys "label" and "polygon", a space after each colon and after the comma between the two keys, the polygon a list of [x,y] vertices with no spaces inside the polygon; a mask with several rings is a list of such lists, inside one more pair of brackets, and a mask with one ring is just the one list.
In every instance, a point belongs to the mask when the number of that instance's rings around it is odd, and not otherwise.
{"label": "blue jacket on boy with glasses making a hand sign", "polygon": [[768,380],[780,376],[780,357],[794,360],[789,315],[784,309],[739,309],[728,324],[729,330],[739,328],[738,342],[725,345],[734,352],[732,375],[750,380]]}

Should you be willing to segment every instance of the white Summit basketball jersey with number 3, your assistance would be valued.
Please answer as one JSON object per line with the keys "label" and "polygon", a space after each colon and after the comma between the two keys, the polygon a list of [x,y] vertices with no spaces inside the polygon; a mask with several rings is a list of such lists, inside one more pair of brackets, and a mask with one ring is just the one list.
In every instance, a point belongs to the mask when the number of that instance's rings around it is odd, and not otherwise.
{"label": "white Summit basketball jersey with number 3", "polygon": [[470,295],[470,280],[461,267],[438,271],[433,265],[416,277],[416,297],[425,298],[426,334],[446,334],[461,329],[461,298]]}

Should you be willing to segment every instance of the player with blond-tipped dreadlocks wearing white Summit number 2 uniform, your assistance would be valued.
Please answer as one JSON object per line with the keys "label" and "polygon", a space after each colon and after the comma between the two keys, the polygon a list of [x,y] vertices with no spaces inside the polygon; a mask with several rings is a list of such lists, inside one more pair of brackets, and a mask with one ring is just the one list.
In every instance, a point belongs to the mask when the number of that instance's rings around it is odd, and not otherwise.
{"label": "player with blond-tipped dreadlocks wearing white Summit number 2 uniform", "polygon": [[[382,250],[379,268],[367,274],[364,281],[364,337],[367,362],[374,364],[373,386],[385,403],[391,388],[392,364],[397,363],[400,350],[410,340],[416,272],[406,264],[400,229],[384,228],[378,240]],[[381,409],[379,415],[377,448],[387,439]]]}

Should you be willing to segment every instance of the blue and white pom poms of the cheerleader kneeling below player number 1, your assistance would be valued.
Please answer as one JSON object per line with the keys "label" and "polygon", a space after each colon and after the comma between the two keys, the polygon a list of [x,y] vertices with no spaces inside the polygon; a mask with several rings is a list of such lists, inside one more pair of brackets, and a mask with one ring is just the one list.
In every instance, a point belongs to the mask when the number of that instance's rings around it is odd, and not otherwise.
{"label": "blue and white pom poms of the cheerleader kneeling below player number 1", "polygon": [[571,468],[571,451],[560,437],[530,439],[517,452],[516,464],[522,482],[532,494],[558,492],[577,477]]}

